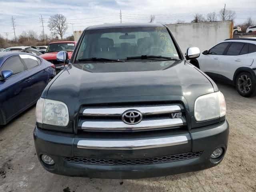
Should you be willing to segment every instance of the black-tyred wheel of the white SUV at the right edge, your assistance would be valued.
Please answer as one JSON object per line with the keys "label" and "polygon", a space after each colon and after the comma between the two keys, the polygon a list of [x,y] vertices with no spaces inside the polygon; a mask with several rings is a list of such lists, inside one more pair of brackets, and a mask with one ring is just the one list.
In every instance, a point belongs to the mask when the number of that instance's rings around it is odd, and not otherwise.
{"label": "black-tyred wheel of the white SUV at the right edge", "polygon": [[236,76],[236,89],[243,97],[251,97],[256,94],[256,83],[253,81],[252,74],[241,72]]}

